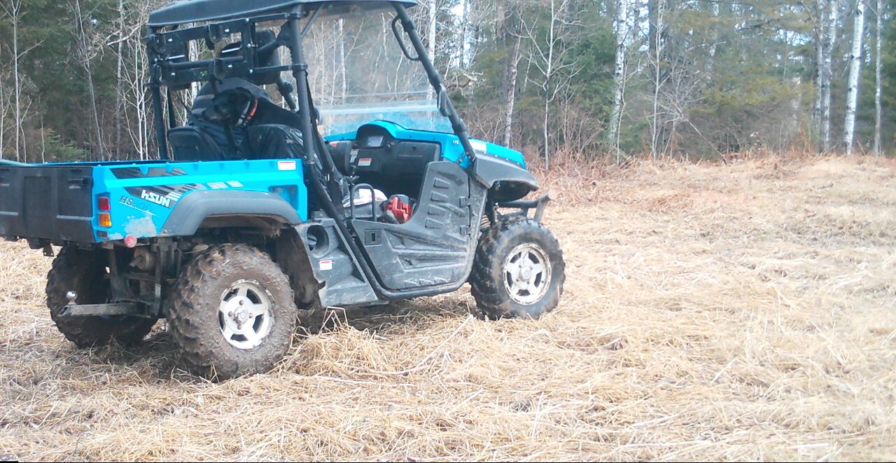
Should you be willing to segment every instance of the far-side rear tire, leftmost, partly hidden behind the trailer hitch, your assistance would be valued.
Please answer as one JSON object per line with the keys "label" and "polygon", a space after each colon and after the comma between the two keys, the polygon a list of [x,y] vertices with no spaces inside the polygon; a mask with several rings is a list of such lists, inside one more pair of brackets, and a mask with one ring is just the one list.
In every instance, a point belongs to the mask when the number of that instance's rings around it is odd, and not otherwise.
{"label": "far-side rear tire, leftmost, partly hidden behind the trailer hitch", "polygon": [[110,284],[102,250],[78,249],[65,246],[47,274],[47,308],[56,328],[81,348],[107,345],[113,339],[123,345],[142,341],[155,325],[155,319],[140,317],[59,317],[68,304],[65,294],[78,294],[79,304],[108,302]]}

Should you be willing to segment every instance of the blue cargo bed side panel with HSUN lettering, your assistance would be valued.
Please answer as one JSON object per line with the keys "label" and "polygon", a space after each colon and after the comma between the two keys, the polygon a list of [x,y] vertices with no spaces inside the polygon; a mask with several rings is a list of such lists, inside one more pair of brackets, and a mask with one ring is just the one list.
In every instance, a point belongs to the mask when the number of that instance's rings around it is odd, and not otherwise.
{"label": "blue cargo bed side panel with HSUN lettering", "polygon": [[[196,191],[243,190],[275,193],[304,221],[307,188],[299,160],[100,163],[93,168],[93,196],[108,196],[112,226],[99,226],[97,242],[164,236],[162,227],[184,198]],[[106,236],[101,236],[106,234]]]}

